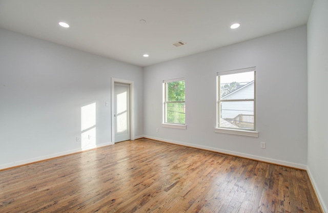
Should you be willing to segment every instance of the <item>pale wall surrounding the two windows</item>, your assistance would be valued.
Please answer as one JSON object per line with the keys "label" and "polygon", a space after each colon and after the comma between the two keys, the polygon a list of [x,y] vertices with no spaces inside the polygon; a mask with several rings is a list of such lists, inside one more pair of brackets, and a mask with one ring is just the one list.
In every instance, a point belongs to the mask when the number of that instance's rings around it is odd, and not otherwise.
{"label": "pale wall surrounding the two windows", "polygon": [[[254,66],[257,67],[259,137],[215,133],[216,73]],[[306,71],[306,26],[146,67],[144,134],[149,138],[305,168],[308,154]],[[187,130],[161,127],[162,80],[179,77],[186,80]],[[261,141],[267,143],[267,148],[260,148]]]}

